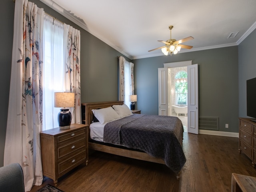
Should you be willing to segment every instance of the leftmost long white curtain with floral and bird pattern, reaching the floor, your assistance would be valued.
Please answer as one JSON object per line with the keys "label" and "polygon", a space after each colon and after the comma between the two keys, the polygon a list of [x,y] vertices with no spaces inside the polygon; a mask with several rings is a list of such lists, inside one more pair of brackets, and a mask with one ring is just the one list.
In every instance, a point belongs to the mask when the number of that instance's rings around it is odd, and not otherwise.
{"label": "leftmost long white curtain with floral and bird pattern, reaching the floor", "polygon": [[34,3],[16,0],[4,166],[16,162],[22,166],[26,191],[43,180],[39,134],[43,17],[44,10]]}

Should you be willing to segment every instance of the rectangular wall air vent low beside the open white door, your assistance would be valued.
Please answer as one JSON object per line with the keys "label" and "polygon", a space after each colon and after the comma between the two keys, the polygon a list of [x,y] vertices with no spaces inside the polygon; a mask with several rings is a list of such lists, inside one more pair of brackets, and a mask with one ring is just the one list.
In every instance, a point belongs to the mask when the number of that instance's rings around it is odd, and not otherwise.
{"label": "rectangular wall air vent low beside the open white door", "polygon": [[218,117],[203,117],[200,116],[198,120],[198,128],[205,130],[219,130],[219,118]]}

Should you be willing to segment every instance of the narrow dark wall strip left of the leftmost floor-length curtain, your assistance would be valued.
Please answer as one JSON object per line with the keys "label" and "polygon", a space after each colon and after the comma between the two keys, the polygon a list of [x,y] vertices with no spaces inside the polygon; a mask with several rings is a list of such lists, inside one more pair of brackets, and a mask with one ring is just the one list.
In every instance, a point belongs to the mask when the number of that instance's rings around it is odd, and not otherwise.
{"label": "narrow dark wall strip left of the leftmost floor-length curtain", "polygon": [[1,48],[0,58],[2,70],[0,72],[0,94],[1,110],[0,110],[0,167],[4,165],[4,142],[7,124],[7,112],[10,89],[10,74],[12,62],[12,39],[13,39],[13,19],[14,19],[14,3],[10,0],[4,0],[0,6],[0,36]]}

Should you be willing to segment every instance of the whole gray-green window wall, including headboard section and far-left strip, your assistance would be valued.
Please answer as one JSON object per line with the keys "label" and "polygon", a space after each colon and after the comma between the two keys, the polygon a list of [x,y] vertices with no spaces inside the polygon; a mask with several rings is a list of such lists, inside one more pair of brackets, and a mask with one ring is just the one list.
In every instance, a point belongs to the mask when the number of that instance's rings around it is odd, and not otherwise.
{"label": "whole gray-green window wall, including headboard section and far-left strip", "polygon": [[[58,14],[39,0],[30,0],[39,8],[44,8],[48,14],[58,18],[66,24],[70,24],[81,32],[81,102],[101,102],[118,100],[117,56],[123,56],[86,30],[80,28],[64,16]],[[0,72],[0,167],[4,164],[4,144],[6,134],[6,122],[8,112],[8,98],[10,89],[10,73],[12,59],[12,40],[14,25],[14,2],[12,0],[1,1],[1,66]],[[4,26],[4,28],[3,28]],[[100,50],[100,52],[99,52]],[[100,53],[100,55],[99,55]],[[125,57],[126,58],[126,57]],[[129,60],[126,58],[126,60]]]}

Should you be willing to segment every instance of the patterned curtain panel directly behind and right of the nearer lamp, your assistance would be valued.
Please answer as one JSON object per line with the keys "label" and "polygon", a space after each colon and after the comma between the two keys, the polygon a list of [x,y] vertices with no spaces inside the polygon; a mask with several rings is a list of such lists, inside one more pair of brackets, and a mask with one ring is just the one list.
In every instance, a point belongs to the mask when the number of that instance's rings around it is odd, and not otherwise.
{"label": "patterned curtain panel directly behind and right of the nearer lamp", "polygon": [[75,107],[70,108],[71,123],[81,124],[80,31],[67,24],[64,24],[64,50],[66,92],[75,93]]}

